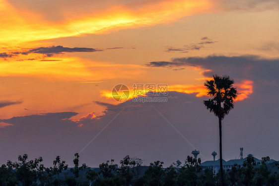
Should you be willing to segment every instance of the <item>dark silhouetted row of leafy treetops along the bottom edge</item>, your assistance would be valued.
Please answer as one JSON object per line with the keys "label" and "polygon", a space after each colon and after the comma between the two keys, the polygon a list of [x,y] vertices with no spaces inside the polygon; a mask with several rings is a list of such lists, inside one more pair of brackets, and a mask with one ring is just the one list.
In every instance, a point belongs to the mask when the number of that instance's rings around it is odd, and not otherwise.
{"label": "dark silhouetted row of leafy treetops along the bottom edge", "polygon": [[[279,186],[279,164],[273,168],[267,164],[269,157],[257,164],[248,157],[243,166],[234,165],[224,171],[227,186]],[[126,156],[116,164],[114,160],[91,169],[79,165],[79,155],[74,154],[74,167],[68,168],[59,156],[53,167],[45,167],[42,157],[29,160],[18,156],[18,162],[7,161],[0,167],[0,186],[219,186],[220,172],[216,175],[210,169],[203,169],[201,159],[188,156],[185,163],[179,160],[167,168],[156,161],[142,166],[142,160]],[[272,171],[275,169],[276,171]]]}

